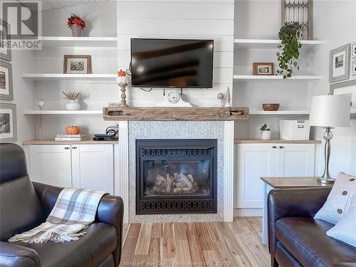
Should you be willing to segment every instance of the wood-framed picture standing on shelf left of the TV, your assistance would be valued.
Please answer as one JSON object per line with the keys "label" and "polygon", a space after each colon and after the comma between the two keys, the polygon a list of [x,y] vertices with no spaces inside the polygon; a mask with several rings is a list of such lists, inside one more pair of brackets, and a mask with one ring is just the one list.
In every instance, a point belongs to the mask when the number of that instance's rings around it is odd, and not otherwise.
{"label": "wood-framed picture standing on shelf left of the TV", "polygon": [[63,73],[90,74],[91,73],[91,56],[64,55]]}

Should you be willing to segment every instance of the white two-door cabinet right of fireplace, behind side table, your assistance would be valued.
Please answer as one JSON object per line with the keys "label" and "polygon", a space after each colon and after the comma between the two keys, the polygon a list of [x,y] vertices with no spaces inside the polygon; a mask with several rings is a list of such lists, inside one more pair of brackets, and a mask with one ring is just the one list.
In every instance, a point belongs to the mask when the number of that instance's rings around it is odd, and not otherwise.
{"label": "white two-door cabinet right of fireplace, behind side table", "polygon": [[313,176],[315,144],[239,144],[237,145],[238,209],[263,208],[261,177]]}

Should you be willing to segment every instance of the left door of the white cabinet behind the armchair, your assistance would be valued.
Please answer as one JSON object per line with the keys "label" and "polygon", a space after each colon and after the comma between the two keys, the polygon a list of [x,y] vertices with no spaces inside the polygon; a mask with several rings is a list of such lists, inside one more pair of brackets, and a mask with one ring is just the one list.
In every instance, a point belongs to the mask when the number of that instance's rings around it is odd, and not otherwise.
{"label": "left door of the white cabinet behind the armchair", "polygon": [[70,145],[30,145],[30,178],[34,182],[71,187]]}

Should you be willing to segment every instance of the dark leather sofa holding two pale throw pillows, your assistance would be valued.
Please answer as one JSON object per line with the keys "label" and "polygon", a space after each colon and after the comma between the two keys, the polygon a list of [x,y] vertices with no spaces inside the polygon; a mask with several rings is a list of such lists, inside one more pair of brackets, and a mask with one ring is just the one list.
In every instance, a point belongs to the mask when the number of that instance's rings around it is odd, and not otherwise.
{"label": "dark leather sofa holding two pale throw pillows", "polygon": [[[268,194],[271,266],[356,266],[356,248],[325,233],[334,225],[313,219],[330,188],[277,189]],[[355,226],[356,227],[356,226]]]}

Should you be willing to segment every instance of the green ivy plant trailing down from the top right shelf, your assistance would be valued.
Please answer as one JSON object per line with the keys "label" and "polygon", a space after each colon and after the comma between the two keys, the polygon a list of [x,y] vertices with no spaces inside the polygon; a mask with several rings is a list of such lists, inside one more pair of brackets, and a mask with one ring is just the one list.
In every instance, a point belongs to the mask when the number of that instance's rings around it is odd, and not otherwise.
{"label": "green ivy plant trailing down from the top right shelf", "polygon": [[288,22],[279,30],[278,36],[282,43],[276,53],[280,68],[277,73],[283,75],[283,79],[292,77],[294,68],[299,70],[298,59],[302,45],[298,39],[302,32],[303,27],[298,22]]}

